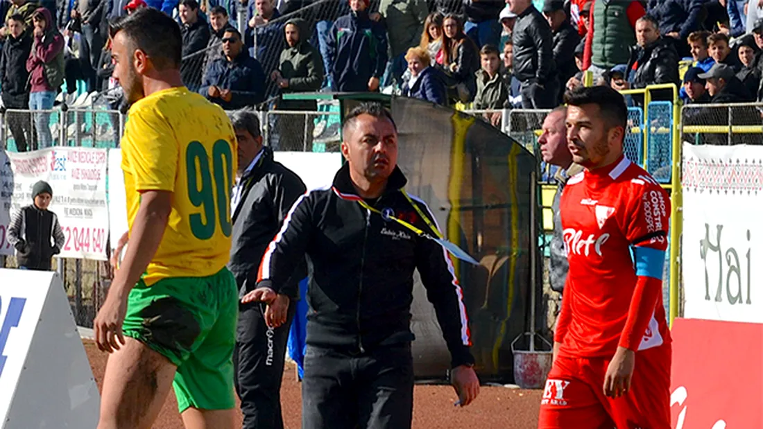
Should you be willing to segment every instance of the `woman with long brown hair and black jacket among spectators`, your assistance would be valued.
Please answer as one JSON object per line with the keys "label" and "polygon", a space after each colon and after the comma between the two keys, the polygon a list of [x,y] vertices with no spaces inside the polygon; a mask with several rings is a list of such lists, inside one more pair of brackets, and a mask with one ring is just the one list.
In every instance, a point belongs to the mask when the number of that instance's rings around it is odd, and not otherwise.
{"label": "woman with long brown hair and black jacket among spectators", "polygon": [[445,78],[451,104],[468,103],[475,98],[477,82],[475,72],[479,69],[479,48],[462,27],[461,19],[454,14],[443,20],[443,46],[437,53],[436,63]]}

